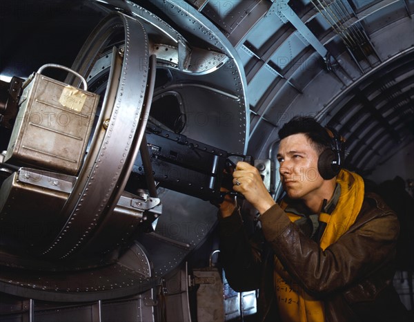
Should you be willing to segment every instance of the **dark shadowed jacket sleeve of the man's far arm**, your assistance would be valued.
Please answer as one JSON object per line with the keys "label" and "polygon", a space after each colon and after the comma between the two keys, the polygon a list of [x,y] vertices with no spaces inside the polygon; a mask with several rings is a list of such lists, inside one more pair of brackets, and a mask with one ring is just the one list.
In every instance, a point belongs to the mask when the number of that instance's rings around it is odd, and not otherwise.
{"label": "dark shadowed jacket sleeve of the man's far arm", "polygon": [[246,235],[239,211],[226,218],[219,216],[219,256],[230,286],[244,292],[259,288],[262,261],[259,243]]}

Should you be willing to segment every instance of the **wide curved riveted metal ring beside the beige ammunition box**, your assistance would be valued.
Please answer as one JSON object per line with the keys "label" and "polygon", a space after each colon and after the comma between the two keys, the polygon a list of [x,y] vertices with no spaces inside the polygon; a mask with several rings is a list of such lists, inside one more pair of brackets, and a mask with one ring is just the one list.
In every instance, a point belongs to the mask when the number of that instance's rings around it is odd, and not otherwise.
{"label": "wide curved riveted metal ring beside the beige ammunition box", "polygon": [[[118,12],[106,17],[95,30],[81,49],[73,69],[86,75],[101,48],[117,32],[124,34],[125,47],[122,55],[114,55],[114,59],[119,56],[123,63],[115,64],[119,68],[115,68],[118,75],[114,76],[119,82],[110,84],[107,94],[112,95],[110,99],[106,95],[101,111],[103,114],[108,110],[108,128],[103,130],[98,126],[94,133],[90,153],[79,173],[77,184],[61,211],[66,222],[55,240],[40,250],[42,256],[49,258],[65,259],[77,252],[90,239],[98,222],[115,207],[119,193],[126,184],[124,176],[130,173],[135,160],[135,149],[141,144],[139,140],[143,135],[135,133],[146,126],[144,122],[139,122],[149,66],[148,37],[144,26],[138,20]],[[72,84],[70,78],[67,82]],[[136,84],[141,90],[128,91],[125,84]],[[100,115],[98,124],[101,122]],[[99,136],[99,140],[95,140],[95,135]],[[81,232],[81,240],[78,234],[72,234],[77,230]]]}

